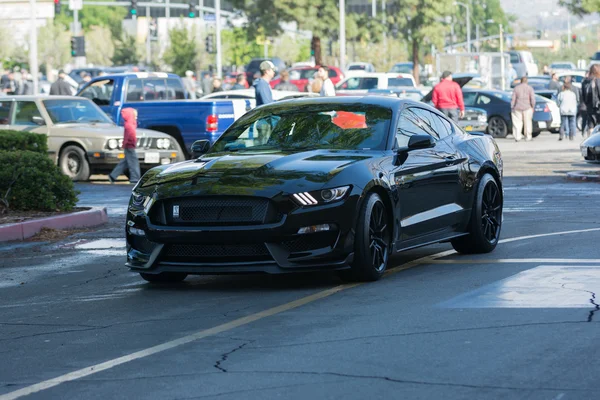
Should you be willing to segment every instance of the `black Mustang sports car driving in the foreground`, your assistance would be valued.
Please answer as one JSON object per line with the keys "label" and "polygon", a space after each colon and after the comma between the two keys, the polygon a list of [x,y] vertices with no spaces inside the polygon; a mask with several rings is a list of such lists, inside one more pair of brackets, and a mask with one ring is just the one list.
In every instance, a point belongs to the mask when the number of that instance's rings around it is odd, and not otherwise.
{"label": "black Mustang sports car driving in the foreground", "polygon": [[376,280],[398,251],[498,243],[496,143],[423,103],[278,102],[192,150],[197,159],[153,168],[133,189],[127,266],[148,281],[314,270]]}

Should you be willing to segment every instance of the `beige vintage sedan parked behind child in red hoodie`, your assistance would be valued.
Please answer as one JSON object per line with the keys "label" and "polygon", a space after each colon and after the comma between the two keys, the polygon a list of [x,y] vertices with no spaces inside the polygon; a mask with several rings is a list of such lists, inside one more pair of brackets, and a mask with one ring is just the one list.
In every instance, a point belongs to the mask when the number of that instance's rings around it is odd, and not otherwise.
{"label": "beige vintage sedan parked behind child in red hoodie", "polygon": [[[124,158],[123,128],[92,101],[72,96],[7,96],[0,101],[0,129],[48,135],[48,152],[74,181],[108,172]],[[140,168],[171,164],[181,157],[175,140],[164,133],[138,129]]]}

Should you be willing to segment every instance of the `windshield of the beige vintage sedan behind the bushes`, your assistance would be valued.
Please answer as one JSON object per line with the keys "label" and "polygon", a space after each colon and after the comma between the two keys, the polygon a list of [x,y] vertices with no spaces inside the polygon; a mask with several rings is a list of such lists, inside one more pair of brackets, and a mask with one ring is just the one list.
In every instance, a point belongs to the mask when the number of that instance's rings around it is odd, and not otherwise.
{"label": "windshield of the beige vintage sedan behind the bushes", "polygon": [[112,124],[106,114],[89,100],[44,100],[46,111],[55,124],[68,122],[99,122]]}

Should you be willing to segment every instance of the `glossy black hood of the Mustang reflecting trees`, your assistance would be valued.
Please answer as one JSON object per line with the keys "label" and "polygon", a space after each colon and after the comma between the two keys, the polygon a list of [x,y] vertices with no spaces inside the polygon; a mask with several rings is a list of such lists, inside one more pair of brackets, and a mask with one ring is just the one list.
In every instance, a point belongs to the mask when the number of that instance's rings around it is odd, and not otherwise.
{"label": "glossy black hood of the Mustang reflecting trees", "polygon": [[348,167],[374,158],[374,153],[377,152],[220,153],[151,170],[142,178],[142,187],[159,185],[156,190],[163,196],[202,193],[271,197],[277,193],[312,191]]}

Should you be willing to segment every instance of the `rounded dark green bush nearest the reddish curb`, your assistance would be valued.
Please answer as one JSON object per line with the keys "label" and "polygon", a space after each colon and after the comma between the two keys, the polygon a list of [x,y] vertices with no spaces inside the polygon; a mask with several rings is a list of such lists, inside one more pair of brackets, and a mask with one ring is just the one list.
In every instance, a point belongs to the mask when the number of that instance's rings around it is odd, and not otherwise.
{"label": "rounded dark green bush nearest the reddish curb", "polygon": [[47,154],[0,151],[0,212],[69,211],[77,204],[77,194]]}

